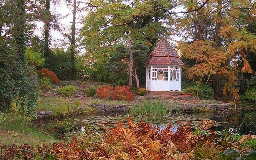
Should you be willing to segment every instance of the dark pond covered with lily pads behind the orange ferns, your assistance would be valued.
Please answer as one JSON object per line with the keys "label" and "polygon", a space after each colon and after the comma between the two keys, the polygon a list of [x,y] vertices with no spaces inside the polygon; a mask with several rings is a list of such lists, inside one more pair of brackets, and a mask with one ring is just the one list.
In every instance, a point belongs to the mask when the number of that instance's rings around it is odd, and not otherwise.
{"label": "dark pond covered with lily pads behind the orange ferns", "polygon": [[228,113],[222,115],[211,114],[172,114],[171,116],[134,116],[131,114],[107,114],[77,116],[64,120],[48,120],[38,122],[39,128],[46,132],[62,134],[66,130],[86,130],[93,129],[102,131],[105,128],[115,127],[117,122],[122,121],[124,126],[128,125],[127,118],[130,117],[134,122],[144,120],[153,126],[164,129],[169,123],[176,128],[179,122],[184,124],[192,122],[192,128],[196,128],[202,119],[212,119],[216,125],[214,131],[228,129],[232,134],[256,134],[256,111]]}

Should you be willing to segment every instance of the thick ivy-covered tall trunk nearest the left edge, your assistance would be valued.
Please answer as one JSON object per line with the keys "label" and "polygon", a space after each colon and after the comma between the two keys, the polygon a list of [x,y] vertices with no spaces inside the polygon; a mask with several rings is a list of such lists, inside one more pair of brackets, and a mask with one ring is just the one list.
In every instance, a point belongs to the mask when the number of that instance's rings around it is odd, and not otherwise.
{"label": "thick ivy-covered tall trunk nearest the left edge", "polygon": [[17,60],[20,64],[25,65],[25,28],[26,28],[26,11],[25,0],[13,0],[14,6],[14,26],[13,39],[14,46],[17,50]]}

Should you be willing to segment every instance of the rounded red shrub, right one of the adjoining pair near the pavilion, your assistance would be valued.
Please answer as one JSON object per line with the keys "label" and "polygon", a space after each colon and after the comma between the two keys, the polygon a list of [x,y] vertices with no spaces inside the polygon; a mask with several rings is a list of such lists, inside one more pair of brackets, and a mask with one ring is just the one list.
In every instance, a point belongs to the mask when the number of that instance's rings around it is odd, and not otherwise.
{"label": "rounded red shrub, right one of the adjoining pair near the pavilion", "polygon": [[131,101],[134,100],[134,96],[129,86],[116,86],[112,93],[114,100]]}

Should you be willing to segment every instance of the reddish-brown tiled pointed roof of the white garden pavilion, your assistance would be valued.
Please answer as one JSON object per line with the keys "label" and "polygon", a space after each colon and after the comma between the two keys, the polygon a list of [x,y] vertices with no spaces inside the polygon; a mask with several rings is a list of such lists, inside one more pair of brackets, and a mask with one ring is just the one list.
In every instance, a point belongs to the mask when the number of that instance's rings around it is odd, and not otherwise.
{"label": "reddish-brown tiled pointed roof of the white garden pavilion", "polygon": [[170,46],[165,38],[161,38],[156,48],[150,53],[150,59],[147,65],[175,65],[184,66],[179,55]]}

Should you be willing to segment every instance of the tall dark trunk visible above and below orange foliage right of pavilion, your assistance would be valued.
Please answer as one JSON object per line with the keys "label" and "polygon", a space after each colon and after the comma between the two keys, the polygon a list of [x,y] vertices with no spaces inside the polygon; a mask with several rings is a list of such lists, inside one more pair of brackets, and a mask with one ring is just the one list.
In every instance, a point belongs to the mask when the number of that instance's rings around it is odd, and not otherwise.
{"label": "tall dark trunk visible above and below orange foliage right of pavilion", "polygon": [[[217,3],[218,3],[217,17],[221,18],[222,0],[217,0]],[[222,23],[221,23],[221,19],[220,19],[220,20],[218,20],[218,22],[216,22],[215,28],[214,28],[214,42],[216,43],[217,47],[221,46],[220,36],[219,36],[221,26],[222,26]],[[215,92],[216,96],[219,96],[219,97],[223,96],[222,91],[221,91],[221,86],[220,86],[220,77],[218,76],[218,74],[215,75],[213,82],[214,82],[214,92]]]}

